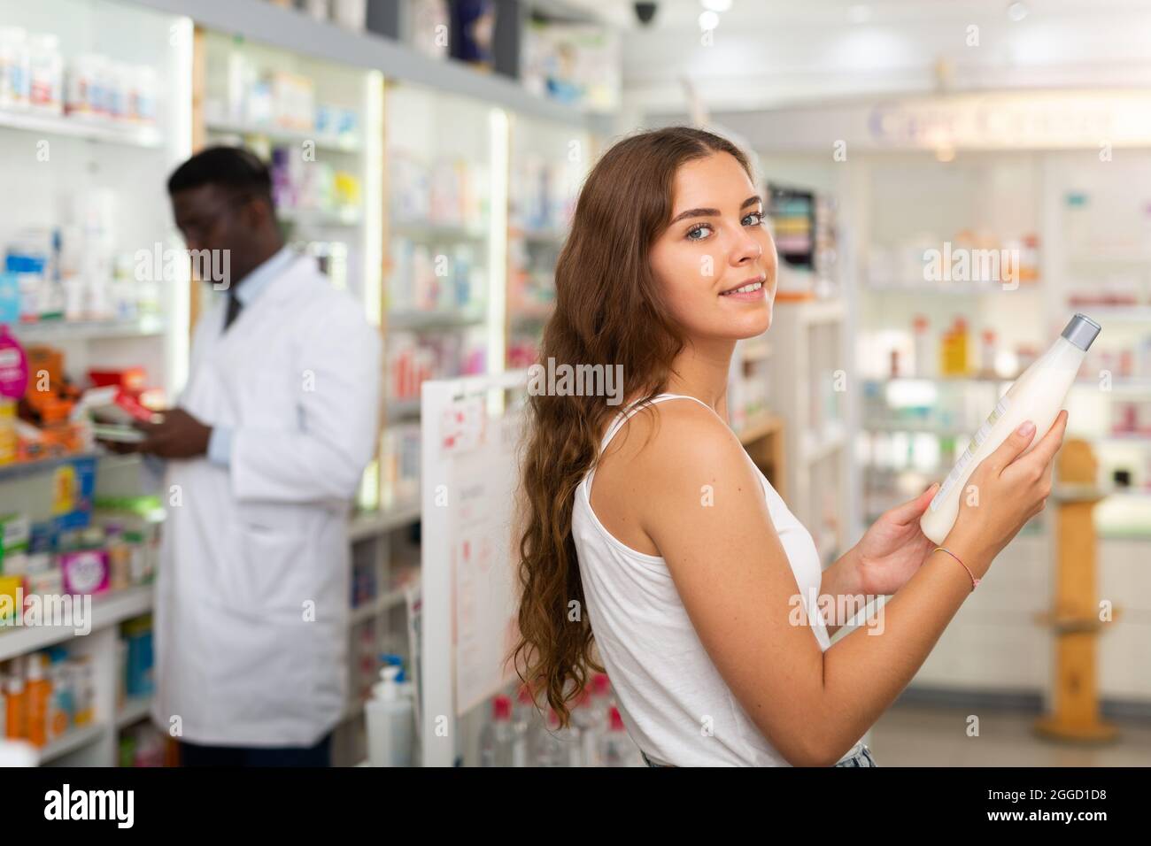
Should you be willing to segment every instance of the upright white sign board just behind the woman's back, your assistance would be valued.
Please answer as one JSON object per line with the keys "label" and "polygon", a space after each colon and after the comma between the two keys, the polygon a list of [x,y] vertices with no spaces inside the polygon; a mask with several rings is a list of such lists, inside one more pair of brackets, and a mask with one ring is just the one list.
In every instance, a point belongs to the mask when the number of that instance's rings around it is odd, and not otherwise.
{"label": "upright white sign board just behind the woman's back", "polygon": [[514,671],[512,519],[523,413],[503,411],[519,371],[421,388],[421,696],[426,765],[451,765],[456,718]]}

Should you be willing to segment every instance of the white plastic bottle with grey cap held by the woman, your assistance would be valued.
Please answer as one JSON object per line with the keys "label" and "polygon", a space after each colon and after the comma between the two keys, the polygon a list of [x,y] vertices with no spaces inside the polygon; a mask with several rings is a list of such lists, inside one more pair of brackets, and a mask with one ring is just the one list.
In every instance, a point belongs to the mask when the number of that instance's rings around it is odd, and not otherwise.
{"label": "white plastic bottle with grey cap held by the woman", "polygon": [[1051,348],[1007,389],[920,519],[923,534],[932,543],[943,543],[951,532],[967,479],[980,462],[994,452],[1024,420],[1035,424],[1035,437],[1024,451],[1030,451],[1047,433],[1083,364],[1083,356],[1099,331],[1099,325],[1091,318],[1076,314]]}

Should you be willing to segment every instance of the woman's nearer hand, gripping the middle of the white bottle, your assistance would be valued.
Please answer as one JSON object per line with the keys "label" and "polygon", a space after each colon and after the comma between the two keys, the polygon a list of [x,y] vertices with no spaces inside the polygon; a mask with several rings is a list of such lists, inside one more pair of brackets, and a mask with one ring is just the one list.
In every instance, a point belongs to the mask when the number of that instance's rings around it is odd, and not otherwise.
{"label": "woman's nearer hand, gripping the middle of the white bottle", "polygon": [[[1029,427],[1026,432],[1024,427]],[[962,549],[973,570],[984,572],[1023,524],[1043,511],[1051,493],[1051,462],[1064,443],[1067,412],[1060,411],[1035,449],[1023,455],[1035,437],[1035,424],[1026,421],[973,471],[960,496],[959,516],[944,541]],[[975,495],[969,496],[971,486]],[[976,573],[981,576],[982,573]]]}

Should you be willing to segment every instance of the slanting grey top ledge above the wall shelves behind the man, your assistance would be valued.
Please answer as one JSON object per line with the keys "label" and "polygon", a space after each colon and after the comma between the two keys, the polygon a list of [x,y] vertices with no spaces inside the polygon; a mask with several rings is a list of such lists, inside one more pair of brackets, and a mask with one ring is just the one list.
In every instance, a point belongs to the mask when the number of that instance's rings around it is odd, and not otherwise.
{"label": "slanting grey top ledge above the wall shelves behind the man", "polygon": [[188,16],[207,29],[243,36],[269,47],[335,64],[380,70],[384,77],[451,91],[519,114],[580,127],[596,123],[578,109],[538,97],[497,74],[481,74],[462,62],[436,60],[375,33],[352,32],[274,3],[254,0],[135,0],[135,3]]}

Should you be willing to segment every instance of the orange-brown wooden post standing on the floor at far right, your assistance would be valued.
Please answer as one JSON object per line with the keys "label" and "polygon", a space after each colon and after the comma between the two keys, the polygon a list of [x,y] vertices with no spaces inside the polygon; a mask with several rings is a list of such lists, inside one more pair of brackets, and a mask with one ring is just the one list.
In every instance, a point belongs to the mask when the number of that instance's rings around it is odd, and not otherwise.
{"label": "orange-brown wooden post standing on the floor at far right", "polygon": [[1119,732],[1099,719],[1096,639],[1103,628],[1096,593],[1097,538],[1092,512],[1106,493],[1096,485],[1097,463],[1085,441],[1068,440],[1057,458],[1054,608],[1042,622],[1055,632],[1052,714],[1035,723],[1045,738],[1106,742]]}

